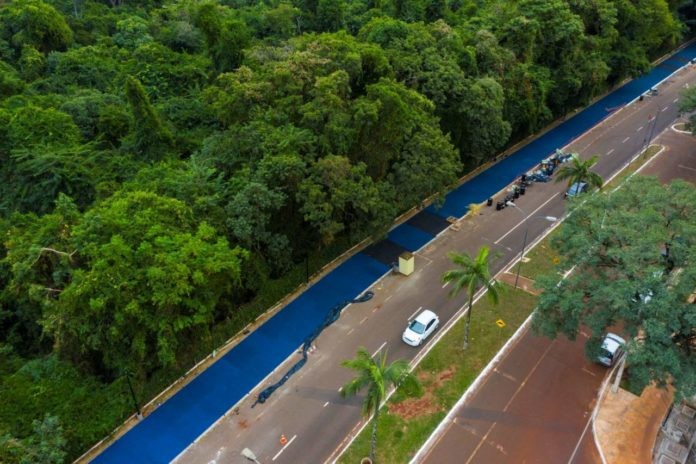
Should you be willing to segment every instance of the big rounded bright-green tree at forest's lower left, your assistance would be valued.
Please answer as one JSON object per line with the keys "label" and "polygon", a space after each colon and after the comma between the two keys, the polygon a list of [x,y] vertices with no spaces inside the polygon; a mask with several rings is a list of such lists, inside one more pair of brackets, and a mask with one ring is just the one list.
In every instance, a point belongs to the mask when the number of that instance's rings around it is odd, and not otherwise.
{"label": "big rounded bright-green tree at forest's lower left", "polygon": [[64,355],[107,373],[149,374],[208,330],[247,253],[192,222],[182,202],[146,192],[85,214],[71,237],[84,264],[46,302],[43,321]]}

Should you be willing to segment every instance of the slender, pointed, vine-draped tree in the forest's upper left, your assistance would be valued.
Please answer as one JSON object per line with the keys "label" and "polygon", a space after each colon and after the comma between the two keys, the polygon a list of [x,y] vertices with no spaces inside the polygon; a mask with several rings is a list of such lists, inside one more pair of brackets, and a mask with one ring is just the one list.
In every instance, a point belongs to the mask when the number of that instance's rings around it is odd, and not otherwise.
{"label": "slender, pointed, vine-draped tree in the forest's upper left", "polygon": [[132,76],[126,78],[126,98],[133,113],[133,148],[147,160],[164,158],[174,144],[173,135],[150,103],[143,85]]}

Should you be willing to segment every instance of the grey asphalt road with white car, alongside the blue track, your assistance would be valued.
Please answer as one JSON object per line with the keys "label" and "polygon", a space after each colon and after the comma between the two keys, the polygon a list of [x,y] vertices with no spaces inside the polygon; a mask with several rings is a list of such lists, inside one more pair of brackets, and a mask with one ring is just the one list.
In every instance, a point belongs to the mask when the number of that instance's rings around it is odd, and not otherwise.
{"label": "grey asphalt road with white car, alongside the blue track", "polygon": [[[609,177],[640,150],[651,134],[659,134],[675,119],[678,92],[687,82],[693,83],[695,76],[694,67],[682,70],[660,86],[658,96],[618,111],[576,139],[570,150],[580,152],[583,157],[599,154],[596,171]],[[306,366],[265,404],[252,409],[253,395],[258,391],[252,392],[236,411],[230,411],[182,452],[176,462],[247,462],[240,455],[245,447],[252,449],[262,463],[331,460],[360,423],[362,398],[344,400],[338,391],[351,378],[340,362],[352,358],[360,346],[370,353],[386,349],[390,359],[411,360],[418,356],[427,345],[411,348],[400,340],[409,317],[419,307],[427,307],[435,310],[445,324],[462,304],[460,299],[448,298],[440,283],[441,274],[451,267],[446,252],[473,253],[488,244],[501,253],[492,270],[507,267],[518,256],[527,227],[531,241],[549,226],[546,221],[528,218],[562,216],[563,190],[561,184],[535,184],[517,202],[526,212],[524,215],[514,208],[499,212],[487,208],[464,220],[459,231],[452,228],[444,231],[416,253],[414,274],[383,277],[371,287],[375,293],[372,300],[344,310],[341,318],[317,339],[318,349],[310,355]],[[555,348],[549,359],[554,358],[556,350],[563,349]],[[275,382],[298,359],[299,355],[289,358],[261,387]],[[587,391],[582,392],[583,398],[590,398],[593,388],[588,384]],[[504,398],[501,402],[505,403]],[[281,434],[289,441],[285,446],[279,442]]]}

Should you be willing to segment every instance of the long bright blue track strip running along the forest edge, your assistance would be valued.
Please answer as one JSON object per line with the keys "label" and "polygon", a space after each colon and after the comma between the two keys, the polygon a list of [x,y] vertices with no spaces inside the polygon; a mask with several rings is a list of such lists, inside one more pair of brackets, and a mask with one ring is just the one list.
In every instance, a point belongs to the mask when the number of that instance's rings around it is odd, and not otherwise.
{"label": "long bright blue track strip running along the forest edge", "polygon": [[[628,82],[450,192],[441,208],[430,206],[422,214],[429,215],[430,222],[433,222],[433,215],[463,216],[469,204],[492,197],[556,148],[567,145],[613,109],[638,97],[694,57],[696,44],[677,52],[649,74]],[[419,228],[417,219],[389,233],[387,240],[398,245],[394,248],[415,251],[434,237],[433,228]],[[439,223],[445,224],[445,221]],[[290,356],[322,323],[331,308],[356,297],[389,270],[385,261],[364,252],[348,259],[115,441],[93,462],[159,464],[174,459]],[[310,326],[307,321],[314,321],[314,325]]]}

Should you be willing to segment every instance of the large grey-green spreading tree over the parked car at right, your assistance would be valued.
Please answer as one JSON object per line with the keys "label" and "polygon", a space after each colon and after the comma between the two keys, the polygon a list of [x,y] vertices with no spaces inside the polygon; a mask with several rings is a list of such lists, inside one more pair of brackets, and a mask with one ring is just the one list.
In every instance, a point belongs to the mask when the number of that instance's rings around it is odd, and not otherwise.
{"label": "large grey-green spreading tree over the parked car at right", "polygon": [[696,312],[687,301],[696,288],[694,205],[691,184],[644,177],[588,197],[553,241],[573,272],[560,285],[557,274],[537,280],[534,329],[574,339],[587,326],[595,359],[602,335],[620,326],[634,386],[654,381],[684,397],[696,393]]}

